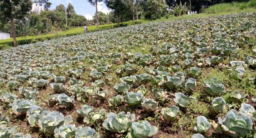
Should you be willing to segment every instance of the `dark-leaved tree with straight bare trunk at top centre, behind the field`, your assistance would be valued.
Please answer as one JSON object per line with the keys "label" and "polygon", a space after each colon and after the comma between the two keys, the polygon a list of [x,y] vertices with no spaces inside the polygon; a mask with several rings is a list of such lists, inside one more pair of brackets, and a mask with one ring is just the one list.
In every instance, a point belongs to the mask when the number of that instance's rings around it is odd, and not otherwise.
{"label": "dark-leaved tree with straight bare trunk at top centre, behind the field", "polygon": [[117,24],[120,27],[120,14],[127,9],[126,0],[104,0],[106,6],[117,14]]}

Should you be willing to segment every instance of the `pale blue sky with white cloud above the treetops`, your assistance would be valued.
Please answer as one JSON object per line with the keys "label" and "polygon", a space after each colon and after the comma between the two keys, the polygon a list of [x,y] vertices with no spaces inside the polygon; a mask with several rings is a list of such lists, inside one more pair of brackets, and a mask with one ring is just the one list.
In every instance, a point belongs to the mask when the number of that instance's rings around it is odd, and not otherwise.
{"label": "pale blue sky with white cloud above the treetops", "polygon": [[[76,14],[83,15],[89,20],[92,20],[92,16],[95,13],[95,7],[87,2],[87,0],[49,0],[49,2],[52,3],[50,9],[55,9],[59,4],[63,4],[67,7],[68,3],[71,3],[74,6]],[[98,11],[102,11],[104,13],[110,12],[103,2],[98,3]]]}

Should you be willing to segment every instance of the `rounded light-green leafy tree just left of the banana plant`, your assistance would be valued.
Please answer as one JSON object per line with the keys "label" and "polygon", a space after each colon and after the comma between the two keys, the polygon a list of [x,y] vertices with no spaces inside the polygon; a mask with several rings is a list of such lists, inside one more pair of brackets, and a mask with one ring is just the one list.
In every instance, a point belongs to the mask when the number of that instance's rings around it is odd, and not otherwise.
{"label": "rounded light-green leafy tree just left of the banana plant", "polygon": [[148,0],[147,6],[153,20],[160,19],[167,13],[168,5],[164,0]]}

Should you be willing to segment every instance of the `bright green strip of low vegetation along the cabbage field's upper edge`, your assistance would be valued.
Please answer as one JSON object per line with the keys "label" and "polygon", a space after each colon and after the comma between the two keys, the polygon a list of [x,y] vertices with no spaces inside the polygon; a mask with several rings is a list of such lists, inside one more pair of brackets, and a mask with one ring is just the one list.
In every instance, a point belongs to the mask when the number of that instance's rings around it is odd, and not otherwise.
{"label": "bright green strip of low vegetation along the cabbage field's upper edge", "polygon": [[[225,15],[225,14],[230,14],[230,13],[242,13],[242,12],[255,12],[255,8],[239,8],[243,4],[248,4],[247,3],[238,3],[238,2],[233,2],[233,3],[222,3],[222,4],[216,4],[214,6],[211,6],[205,10],[205,13],[200,13],[200,14],[190,14],[190,15],[183,15],[183,16],[178,16],[178,17],[172,17],[169,19],[162,18],[158,20],[136,20],[134,23],[132,21],[128,22],[123,22],[120,24],[121,27],[125,26],[130,26],[130,25],[137,25],[137,24],[147,24],[147,23],[152,23],[152,22],[166,22],[166,21],[173,21],[173,20],[182,20],[182,19],[191,19],[191,18],[203,18],[203,17],[208,17],[208,16],[215,16],[215,15]],[[113,25],[114,28],[117,28],[117,24]],[[101,31],[101,30],[108,30],[112,29],[112,24],[106,24],[106,25],[99,25],[99,29],[97,29],[96,25],[93,26],[88,26],[88,32],[95,32],[95,31]],[[79,35],[79,34],[84,34],[84,27],[79,27],[79,28],[74,28],[54,34],[45,34],[45,35],[38,35],[38,36],[28,36],[26,37],[17,37],[17,44],[22,45],[22,44],[28,44],[28,43],[35,43],[39,41],[44,41],[44,40],[51,40],[55,38],[60,38],[60,37],[68,37],[68,36],[74,36],[74,35]],[[10,48],[13,45],[13,39],[4,39],[0,40],[0,50],[1,49],[7,49]]]}

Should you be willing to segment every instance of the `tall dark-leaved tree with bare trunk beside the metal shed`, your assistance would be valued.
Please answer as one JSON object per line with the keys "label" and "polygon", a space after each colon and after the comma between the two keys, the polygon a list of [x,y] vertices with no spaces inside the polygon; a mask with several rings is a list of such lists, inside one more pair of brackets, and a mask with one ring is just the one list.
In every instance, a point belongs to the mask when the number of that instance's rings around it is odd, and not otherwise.
{"label": "tall dark-leaved tree with bare trunk beside the metal shed", "polygon": [[13,46],[16,44],[15,24],[14,19],[24,19],[29,11],[32,9],[32,0],[1,0],[0,10],[1,20],[9,20],[11,23],[11,31],[13,37]]}

